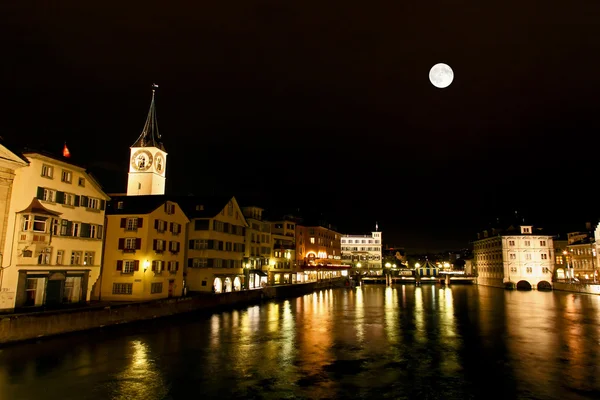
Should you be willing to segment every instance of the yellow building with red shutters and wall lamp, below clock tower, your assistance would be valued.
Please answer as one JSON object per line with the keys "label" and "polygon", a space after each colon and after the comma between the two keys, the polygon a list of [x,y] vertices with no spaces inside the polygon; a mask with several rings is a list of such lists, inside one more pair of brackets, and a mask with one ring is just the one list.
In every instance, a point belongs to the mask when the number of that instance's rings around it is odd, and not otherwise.
{"label": "yellow building with red shutters and wall lamp, below clock tower", "polygon": [[183,295],[189,219],[167,196],[115,197],[107,208],[101,300]]}

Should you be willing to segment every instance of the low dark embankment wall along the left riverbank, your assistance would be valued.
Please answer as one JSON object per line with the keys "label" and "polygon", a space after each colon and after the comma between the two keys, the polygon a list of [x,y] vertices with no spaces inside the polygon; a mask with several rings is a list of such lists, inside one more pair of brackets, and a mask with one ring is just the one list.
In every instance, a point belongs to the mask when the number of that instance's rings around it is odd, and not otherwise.
{"label": "low dark embankment wall along the left riverbank", "polygon": [[144,302],[44,311],[0,316],[0,345],[102,328],[201,310],[218,310],[260,303],[269,299],[302,296],[316,290],[341,287],[345,279],[281,285],[231,293],[195,293]]}

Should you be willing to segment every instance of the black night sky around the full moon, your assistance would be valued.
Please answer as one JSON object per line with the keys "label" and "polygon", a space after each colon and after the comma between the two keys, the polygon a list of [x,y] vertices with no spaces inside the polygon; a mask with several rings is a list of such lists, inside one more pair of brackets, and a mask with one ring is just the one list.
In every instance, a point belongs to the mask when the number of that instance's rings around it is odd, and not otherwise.
{"label": "black night sky around the full moon", "polygon": [[378,221],[409,249],[515,210],[600,216],[595,0],[19,1],[0,19],[0,135],[66,140],[109,192],[156,82],[171,192]]}

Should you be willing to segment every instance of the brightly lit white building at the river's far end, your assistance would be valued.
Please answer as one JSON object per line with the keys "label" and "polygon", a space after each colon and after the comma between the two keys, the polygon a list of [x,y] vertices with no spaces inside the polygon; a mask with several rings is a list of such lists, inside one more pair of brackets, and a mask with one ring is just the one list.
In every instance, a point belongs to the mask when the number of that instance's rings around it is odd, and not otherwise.
{"label": "brightly lit white building at the river's far end", "polygon": [[342,235],[342,262],[352,266],[352,274],[382,275],[381,240],[377,230],[370,235]]}

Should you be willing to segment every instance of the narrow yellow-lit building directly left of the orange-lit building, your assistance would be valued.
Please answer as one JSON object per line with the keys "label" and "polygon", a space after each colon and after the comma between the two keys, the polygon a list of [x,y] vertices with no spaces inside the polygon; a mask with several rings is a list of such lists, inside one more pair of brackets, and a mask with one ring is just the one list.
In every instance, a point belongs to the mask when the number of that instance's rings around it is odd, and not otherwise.
{"label": "narrow yellow-lit building directly left of the orange-lit building", "polygon": [[296,221],[283,217],[271,221],[273,250],[269,263],[269,283],[272,285],[303,282],[304,274],[296,263]]}

